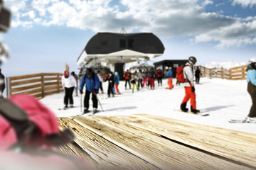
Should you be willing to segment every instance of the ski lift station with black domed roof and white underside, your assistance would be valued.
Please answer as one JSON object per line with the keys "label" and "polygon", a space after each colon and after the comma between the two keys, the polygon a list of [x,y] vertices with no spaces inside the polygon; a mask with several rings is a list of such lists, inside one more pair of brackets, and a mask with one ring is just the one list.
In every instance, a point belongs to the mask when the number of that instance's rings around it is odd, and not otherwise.
{"label": "ski lift station with black domed roof and white underside", "polygon": [[78,66],[114,67],[124,73],[124,64],[145,62],[164,54],[164,45],[153,33],[97,33],[78,57]]}

